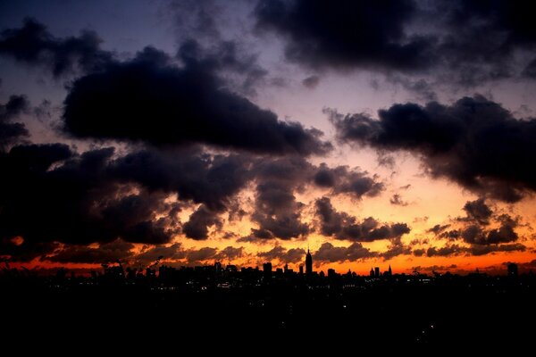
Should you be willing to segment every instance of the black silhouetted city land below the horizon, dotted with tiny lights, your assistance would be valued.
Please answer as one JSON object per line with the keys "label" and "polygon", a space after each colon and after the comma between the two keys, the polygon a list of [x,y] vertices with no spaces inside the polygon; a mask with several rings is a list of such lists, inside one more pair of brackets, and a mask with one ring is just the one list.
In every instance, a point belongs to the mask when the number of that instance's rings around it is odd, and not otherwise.
{"label": "black silhouetted city land below the horizon, dotted with tiny lights", "polygon": [[534,336],[532,274],[319,277],[163,267],[159,276],[123,277],[121,271],[82,278],[60,270],[46,278],[4,270],[5,341],[186,346],[200,339],[202,350],[262,344],[439,351],[530,346]]}

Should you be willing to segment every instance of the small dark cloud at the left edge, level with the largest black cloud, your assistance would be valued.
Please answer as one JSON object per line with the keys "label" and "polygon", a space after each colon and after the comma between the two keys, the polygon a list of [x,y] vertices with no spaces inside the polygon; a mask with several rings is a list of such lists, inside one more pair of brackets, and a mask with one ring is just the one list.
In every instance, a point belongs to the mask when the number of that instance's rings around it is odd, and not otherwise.
{"label": "small dark cloud at the left edge, level with the largest black cloud", "polygon": [[11,95],[6,104],[0,104],[0,150],[16,144],[21,137],[28,137],[29,132],[25,125],[13,122],[28,109],[29,103],[24,95]]}

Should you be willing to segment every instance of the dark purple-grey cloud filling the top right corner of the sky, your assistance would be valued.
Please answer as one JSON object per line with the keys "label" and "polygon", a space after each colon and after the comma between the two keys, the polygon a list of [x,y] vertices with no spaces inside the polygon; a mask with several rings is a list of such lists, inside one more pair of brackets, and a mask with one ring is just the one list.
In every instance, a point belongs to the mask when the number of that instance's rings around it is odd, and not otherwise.
{"label": "dark purple-grey cloud filling the top right corner of the sky", "polygon": [[468,84],[513,76],[515,54],[533,54],[536,27],[526,2],[446,1],[437,12],[446,20],[438,50]]}

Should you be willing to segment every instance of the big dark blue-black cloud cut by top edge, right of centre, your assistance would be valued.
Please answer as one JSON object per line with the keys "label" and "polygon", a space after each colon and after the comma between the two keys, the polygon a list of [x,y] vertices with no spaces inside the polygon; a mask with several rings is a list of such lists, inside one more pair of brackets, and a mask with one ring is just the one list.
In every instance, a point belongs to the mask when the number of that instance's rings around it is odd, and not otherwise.
{"label": "big dark blue-black cloud cut by top edge, right of centre", "polygon": [[433,60],[431,40],[411,36],[412,1],[261,1],[257,29],[286,40],[285,54],[313,68],[352,67],[415,71]]}

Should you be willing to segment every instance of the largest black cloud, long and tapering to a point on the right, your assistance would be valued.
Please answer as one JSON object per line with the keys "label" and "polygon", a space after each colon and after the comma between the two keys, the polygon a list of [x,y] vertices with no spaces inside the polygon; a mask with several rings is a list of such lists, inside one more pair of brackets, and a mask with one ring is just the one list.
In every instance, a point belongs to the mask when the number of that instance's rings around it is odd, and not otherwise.
{"label": "largest black cloud, long and tapering to a point on the right", "polygon": [[157,146],[200,143],[258,154],[331,149],[319,130],[278,120],[225,89],[210,62],[195,59],[178,68],[139,54],[74,81],[64,106],[63,129],[80,138]]}

